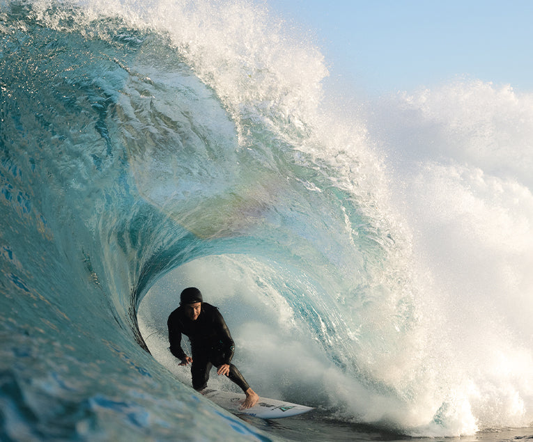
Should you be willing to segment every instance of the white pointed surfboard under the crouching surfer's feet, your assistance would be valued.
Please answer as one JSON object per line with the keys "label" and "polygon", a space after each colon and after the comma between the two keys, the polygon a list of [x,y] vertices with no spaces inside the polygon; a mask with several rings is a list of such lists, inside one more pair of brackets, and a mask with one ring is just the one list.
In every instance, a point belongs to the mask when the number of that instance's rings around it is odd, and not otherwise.
{"label": "white pointed surfboard under the crouching surfer's feet", "polygon": [[210,390],[209,388],[206,388],[201,393],[209,400],[215,402],[215,404],[232,413],[247,414],[261,419],[288,418],[307,413],[307,411],[313,409],[313,407],[306,407],[305,405],[259,397],[259,401],[254,407],[240,410],[240,404],[246,397],[244,393],[231,393],[230,391]]}

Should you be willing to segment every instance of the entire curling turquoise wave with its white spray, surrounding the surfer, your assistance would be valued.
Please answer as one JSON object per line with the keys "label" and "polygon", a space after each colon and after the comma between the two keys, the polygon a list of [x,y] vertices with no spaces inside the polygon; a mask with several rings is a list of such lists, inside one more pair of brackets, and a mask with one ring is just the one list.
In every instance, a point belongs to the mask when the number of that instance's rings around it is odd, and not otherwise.
{"label": "entire curling turquoise wave with its white spray, surrounding the surfer", "polygon": [[[244,0],[3,0],[0,35],[2,441],[533,434],[533,95],[359,100]],[[190,285],[316,410],[194,392]]]}

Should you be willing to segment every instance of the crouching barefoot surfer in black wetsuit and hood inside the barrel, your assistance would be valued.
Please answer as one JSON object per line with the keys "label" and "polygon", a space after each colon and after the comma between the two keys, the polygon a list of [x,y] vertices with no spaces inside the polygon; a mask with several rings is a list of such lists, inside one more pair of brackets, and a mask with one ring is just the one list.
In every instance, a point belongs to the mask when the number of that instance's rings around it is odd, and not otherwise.
{"label": "crouching barefoot surfer in black wetsuit and hood inside the barrel", "polygon": [[[201,391],[207,387],[209,372],[215,365],[217,374],[224,374],[245,392],[241,409],[254,407],[257,393],[250,388],[240,371],[231,363],[235,342],[218,308],[203,302],[196,287],[188,287],[180,294],[180,306],[167,321],[170,352],[180,359],[180,365],[191,364],[192,387]],[[192,357],[181,348],[181,335],[191,342]]]}

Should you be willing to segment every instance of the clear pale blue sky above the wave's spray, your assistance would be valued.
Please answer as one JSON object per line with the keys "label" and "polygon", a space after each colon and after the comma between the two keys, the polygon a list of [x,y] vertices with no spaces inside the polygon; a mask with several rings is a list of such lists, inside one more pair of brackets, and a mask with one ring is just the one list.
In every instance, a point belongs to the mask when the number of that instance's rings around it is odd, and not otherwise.
{"label": "clear pale blue sky above the wave's spray", "polygon": [[533,92],[533,0],[267,0],[366,93],[477,78]]}

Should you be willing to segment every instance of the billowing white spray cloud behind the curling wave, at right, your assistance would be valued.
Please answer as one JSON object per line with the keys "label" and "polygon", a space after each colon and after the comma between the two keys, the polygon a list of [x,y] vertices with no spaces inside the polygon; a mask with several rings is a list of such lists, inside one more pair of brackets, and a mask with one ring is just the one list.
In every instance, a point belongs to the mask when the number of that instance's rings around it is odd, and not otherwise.
{"label": "billowing white spray cloud behind the curling wave, at right", "polygon": [[481,428],[531,420],[531,100],[473,81],[405,95],[386,117],[443,374]]}

